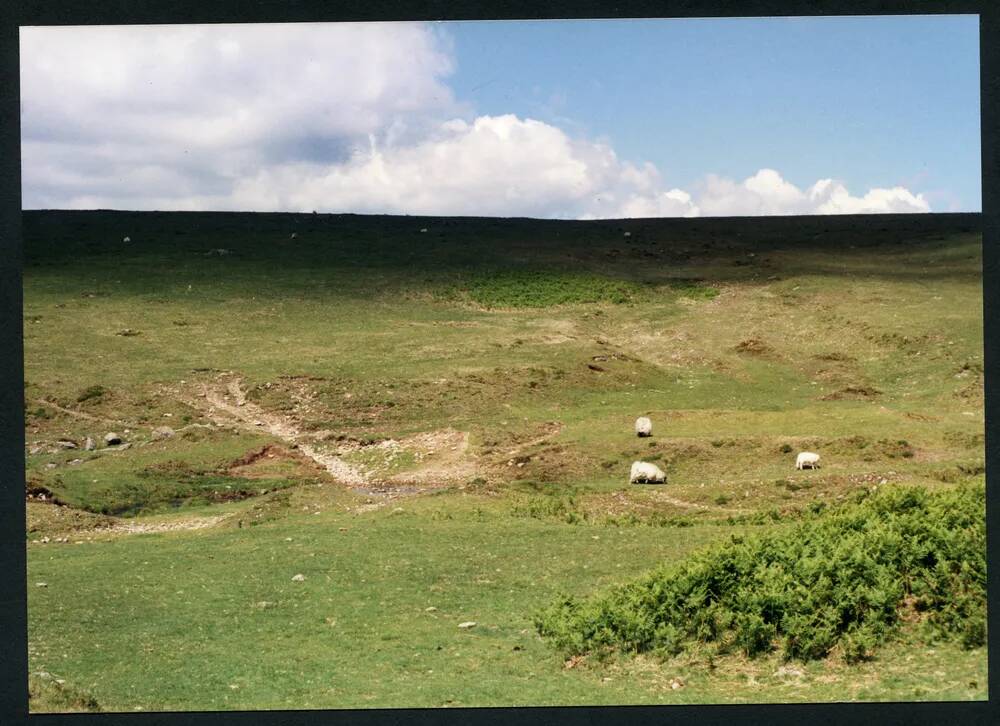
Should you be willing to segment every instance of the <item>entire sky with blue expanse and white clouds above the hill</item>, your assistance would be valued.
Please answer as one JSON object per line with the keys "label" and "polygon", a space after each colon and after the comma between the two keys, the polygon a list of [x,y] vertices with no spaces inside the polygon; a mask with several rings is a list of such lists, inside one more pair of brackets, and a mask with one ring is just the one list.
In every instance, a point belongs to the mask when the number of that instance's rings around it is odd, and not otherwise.
{"label": "entire sky with blue expanse and white clouds above the hill", "polygon": [[975,16],[21,29],[25,209],[981,209]]}

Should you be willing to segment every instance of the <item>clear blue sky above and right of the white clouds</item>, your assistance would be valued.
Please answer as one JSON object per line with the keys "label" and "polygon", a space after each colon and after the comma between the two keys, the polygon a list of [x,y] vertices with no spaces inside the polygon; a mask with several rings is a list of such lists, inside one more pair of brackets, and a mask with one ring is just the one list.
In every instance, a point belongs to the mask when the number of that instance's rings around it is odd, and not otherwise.
{"label": "clear blue sky above and right of the white clouds", "polygon": [[668,184],[770,167],[980,211],[976,16],[444,25],[478,111],[607,137]]}

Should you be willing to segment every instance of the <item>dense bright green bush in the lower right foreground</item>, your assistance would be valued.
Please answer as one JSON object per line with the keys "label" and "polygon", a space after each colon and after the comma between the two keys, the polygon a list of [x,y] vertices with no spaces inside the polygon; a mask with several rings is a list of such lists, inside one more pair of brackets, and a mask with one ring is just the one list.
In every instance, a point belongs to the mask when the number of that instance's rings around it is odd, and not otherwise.
{"label": "dense bright green bush in the lower right foreground", "polygon": [[695,642],[748,656],[871,656],[901,620],[986,641],[985,486],[864,492],[771,536],[734,536],[675,566],[535,620],[569,654],[671,655]]}

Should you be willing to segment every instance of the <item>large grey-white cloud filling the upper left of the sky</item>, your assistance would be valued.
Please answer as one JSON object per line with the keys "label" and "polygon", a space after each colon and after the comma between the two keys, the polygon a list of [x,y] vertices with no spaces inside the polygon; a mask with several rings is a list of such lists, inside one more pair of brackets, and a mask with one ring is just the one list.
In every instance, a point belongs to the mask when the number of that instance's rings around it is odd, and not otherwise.
{"label": "large grey-white cloud filling the upper left of the sky", "polygon": [[22,28],[25,205],[213,203],[273,163],[419,139],[468,112],[452,70],[411,23]]}

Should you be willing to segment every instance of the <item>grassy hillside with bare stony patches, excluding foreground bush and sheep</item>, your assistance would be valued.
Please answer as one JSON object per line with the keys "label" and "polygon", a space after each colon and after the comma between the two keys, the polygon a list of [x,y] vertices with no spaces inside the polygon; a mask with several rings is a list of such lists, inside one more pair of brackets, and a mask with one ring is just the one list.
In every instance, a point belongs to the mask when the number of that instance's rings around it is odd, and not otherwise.
{"label": "grassy hillside with bare stony patches, excluding foreground bush and sheep", "polygon": [[967,218],[31,212],[25,241],[35,709],[985,695],[984,649],[918,630],[789,681],[578,664],[532,624],[857,490],[982,481]]}

